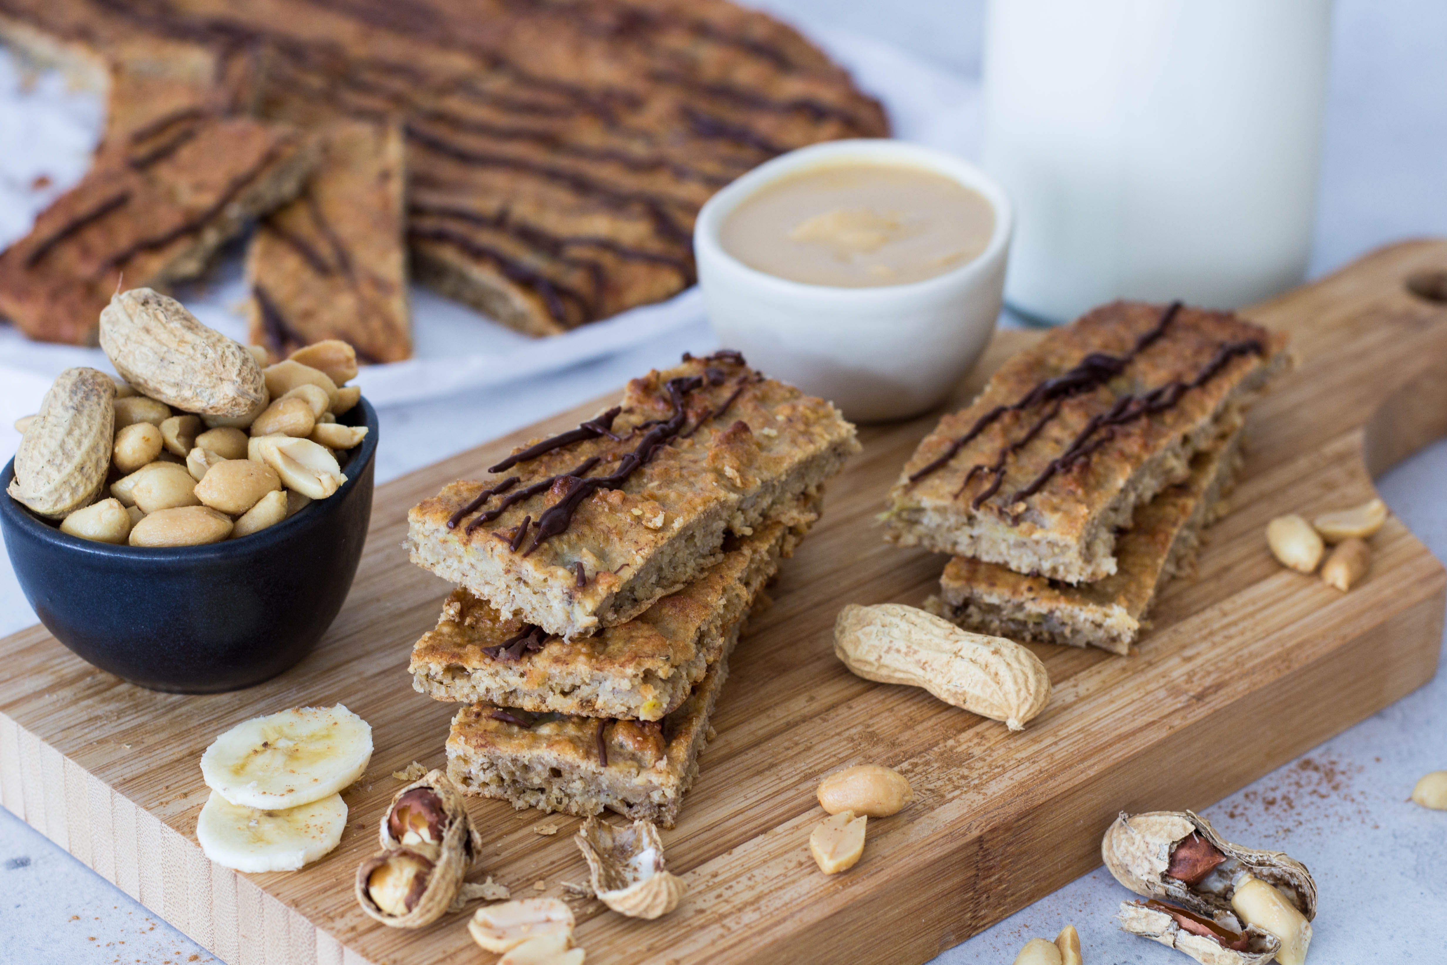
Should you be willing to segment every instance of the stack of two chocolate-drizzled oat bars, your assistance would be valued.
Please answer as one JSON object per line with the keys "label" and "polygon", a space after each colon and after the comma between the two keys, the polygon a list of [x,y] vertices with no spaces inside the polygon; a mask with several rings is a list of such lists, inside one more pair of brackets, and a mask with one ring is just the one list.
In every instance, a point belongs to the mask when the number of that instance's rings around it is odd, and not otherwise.
{"label": "stack of two chocolate-drizzled oat bars", "polygon": [[887,537],[954,554],[926,606],[967,629],[1124,654],[1288,363],[1283,336],[1230,313],[1097,308],[941,420],[890,490]]}

